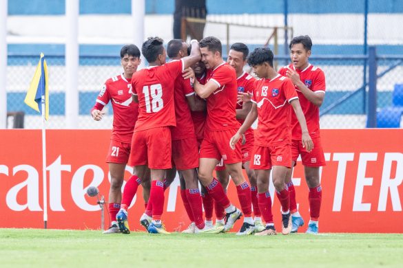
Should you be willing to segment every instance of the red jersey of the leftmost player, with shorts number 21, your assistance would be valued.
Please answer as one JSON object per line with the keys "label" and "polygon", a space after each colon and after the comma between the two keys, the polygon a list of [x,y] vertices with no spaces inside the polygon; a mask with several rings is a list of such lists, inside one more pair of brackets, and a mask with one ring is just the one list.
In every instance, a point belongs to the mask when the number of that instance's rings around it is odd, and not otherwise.
{"label": "red jersey of the leftmost player, with shorts number 21", "polygon": [[129,144],[138,117],[138,104],[132,101],[130,80],[123,74],[109,78],[96,98],[96,102],[103,106],[112,102],[114,122],[111,139]]}

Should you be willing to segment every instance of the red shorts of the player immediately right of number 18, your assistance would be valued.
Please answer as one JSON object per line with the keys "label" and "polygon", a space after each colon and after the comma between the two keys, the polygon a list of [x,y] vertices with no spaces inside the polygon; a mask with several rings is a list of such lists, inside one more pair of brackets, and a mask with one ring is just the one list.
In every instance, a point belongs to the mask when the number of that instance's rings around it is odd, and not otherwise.
{"label": "red shorts of the player immediately right of number 18", "polygon": [[198,168],[198,147],[196,137],[172,141],[172,160],[177,170]]}

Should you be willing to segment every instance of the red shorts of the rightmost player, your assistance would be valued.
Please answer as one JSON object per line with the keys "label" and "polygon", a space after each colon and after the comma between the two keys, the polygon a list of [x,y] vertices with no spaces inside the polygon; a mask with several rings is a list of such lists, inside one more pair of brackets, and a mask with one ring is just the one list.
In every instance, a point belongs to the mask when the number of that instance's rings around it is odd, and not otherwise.
{"label": "red shorts of the rightmost player", "polygon": [[298,156],[301,155],[302,165],[316,168],[319,166],[326,166],[326,160],[324,160],[324,153],[320,137],[313,137],[313,150],[308,153],[307,150],[302,147],[302,141],[300,139],[293,139],[291,145],[292,159],[297,163]]}

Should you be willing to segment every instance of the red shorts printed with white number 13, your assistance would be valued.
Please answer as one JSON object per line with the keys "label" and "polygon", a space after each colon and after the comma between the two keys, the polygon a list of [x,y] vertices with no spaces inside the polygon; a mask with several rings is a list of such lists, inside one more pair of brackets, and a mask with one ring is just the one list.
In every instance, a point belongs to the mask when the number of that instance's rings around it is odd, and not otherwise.
{"label": "red shorts printed with white number 13", "polygon": [[291,145],[280,144],[276,146],[254,146],[251,157],[251,169],[268,170],[272,166],[286,166],[291,168]]}

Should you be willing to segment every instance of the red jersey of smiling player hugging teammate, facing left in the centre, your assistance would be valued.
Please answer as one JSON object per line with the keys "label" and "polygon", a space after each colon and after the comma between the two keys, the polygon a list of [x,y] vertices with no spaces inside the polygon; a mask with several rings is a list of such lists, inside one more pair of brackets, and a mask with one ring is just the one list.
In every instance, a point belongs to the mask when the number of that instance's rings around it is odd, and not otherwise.
{"label": "red jersey of smiling player hugging teammate, facing left in the centre", "polygon": [[235,111],[238,94],[235,69],[223,62],[216,68],[207,70],[206,81],[210,80],[218,85],[218,89],[207,98],[206,129],[224,131],[239,128]]}

